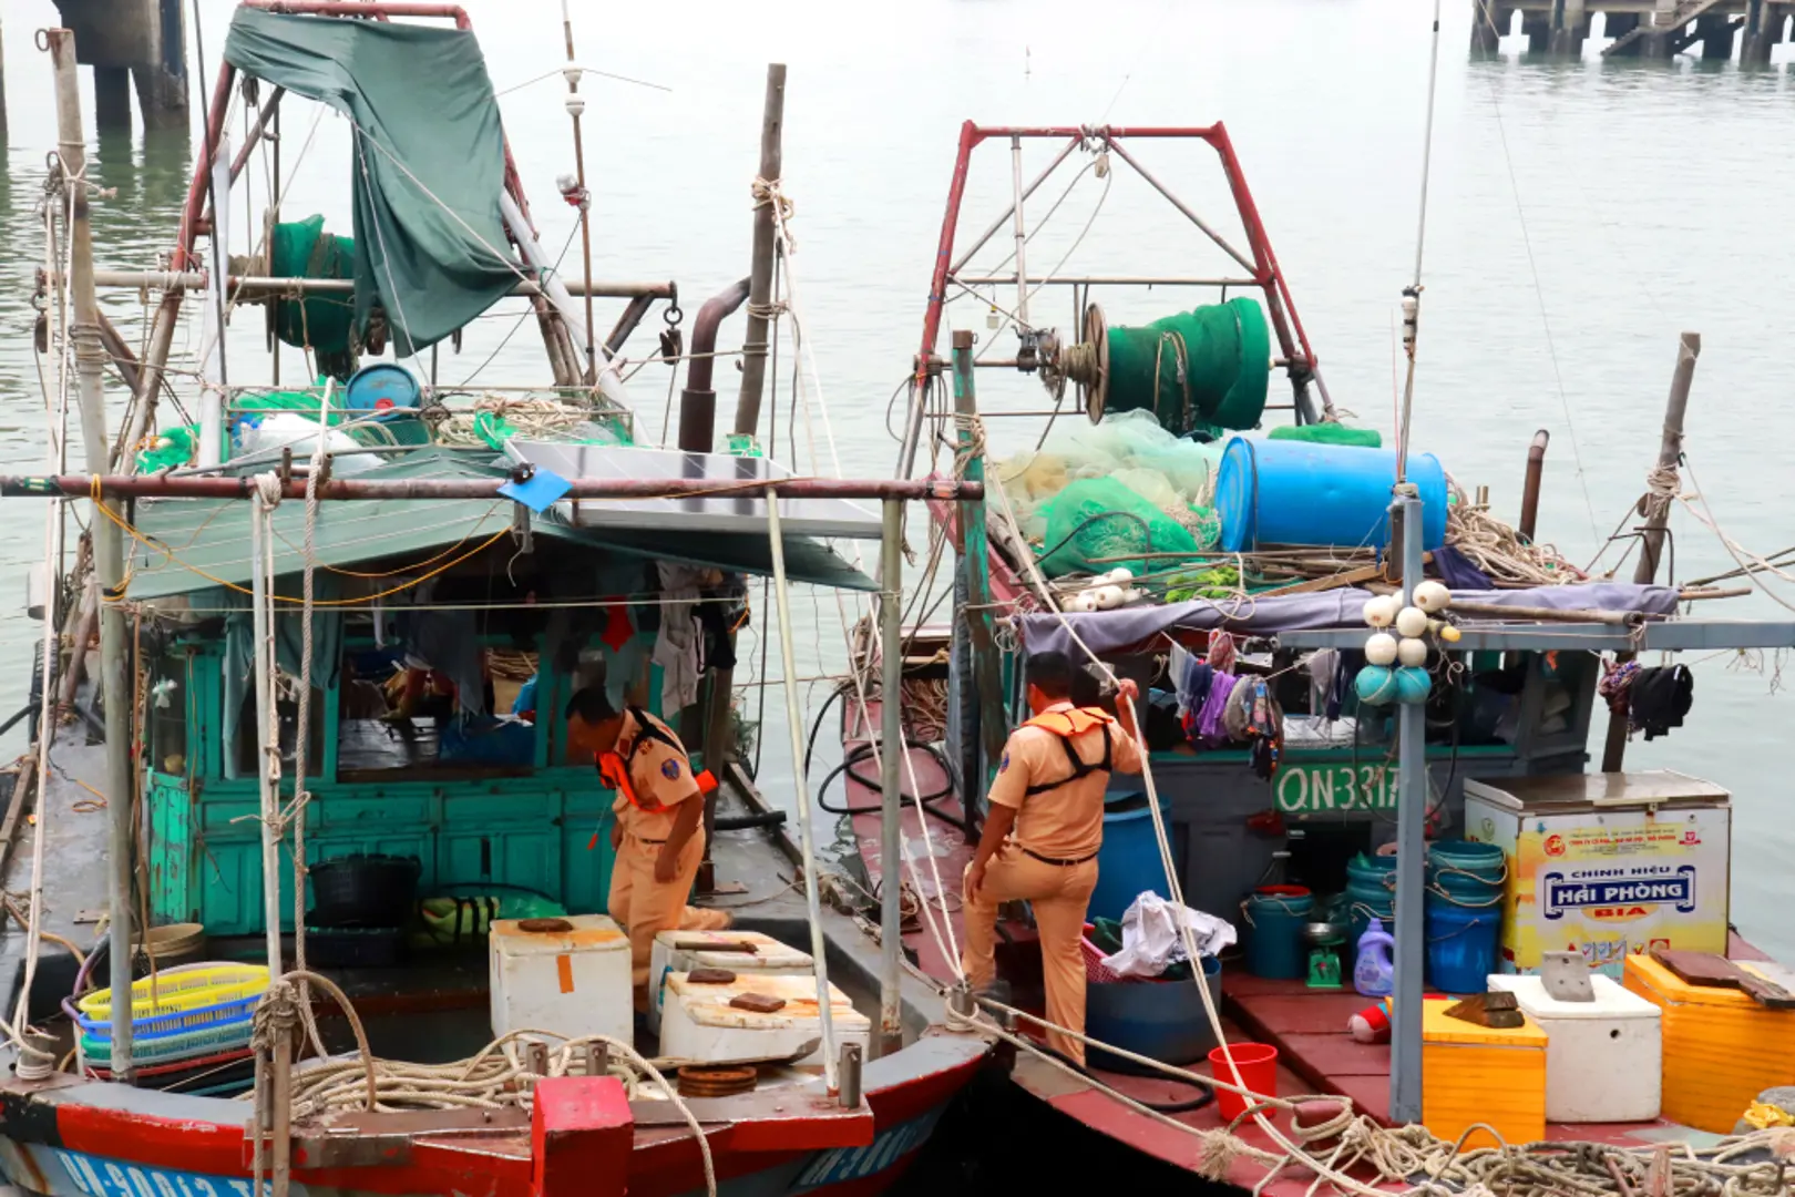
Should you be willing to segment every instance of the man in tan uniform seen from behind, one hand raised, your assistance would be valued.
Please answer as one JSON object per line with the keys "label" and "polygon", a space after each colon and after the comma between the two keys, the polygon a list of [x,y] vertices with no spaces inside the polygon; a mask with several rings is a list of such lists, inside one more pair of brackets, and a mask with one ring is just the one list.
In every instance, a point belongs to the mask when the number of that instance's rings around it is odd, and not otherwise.
{"label": "man in tan uniform seen from behind, one hand raised", "polygon": [[[1079,939],[1097,888],[1097,849],[1104,842],[1104,790],[1111,772],[1138,773],[1134,682],[1122,680],[1122,720],[1072,703],[1073,673],[1064,653],[1029,659],[1034,718],[1003,745],[991,782],[985,831],[966,869],[966,953],[975,987],[996,978],[996,915],[1027,899],[1041,937],[1046,1019],[1084,1034],[1084,958]],[[1059,1032],[1046,1043],[1084,1062],[1084,1044]]]}

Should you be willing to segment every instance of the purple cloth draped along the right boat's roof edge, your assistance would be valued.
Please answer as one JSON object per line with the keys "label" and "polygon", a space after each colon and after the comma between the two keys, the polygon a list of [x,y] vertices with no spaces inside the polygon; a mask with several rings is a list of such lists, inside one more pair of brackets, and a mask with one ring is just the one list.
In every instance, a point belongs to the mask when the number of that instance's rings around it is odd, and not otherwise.
{"label": "purple cloth draped along the right boat's roof edge", "polygon": [[[1641,587],[1624,581],[1533,587],[1531,590],[1454,590],[1456,599],[1497,607],[1553,607],[1556,610],[1633,610],[1669,616],[1677,610],[1675,587]],[[1082,657],[1066,633],[1064,617],[1079,630],[1079,639],[1095,653],[1111,653],[1140,644],[1170,628],[1219,628],[1251,635],[1276,635],[1310,628],[1362,628],[1368,590],[1339,589],[1321,594],[1283,594],[1244,603],[1190,599],[1160,607],[1122,607],[1118,610],[1073,612],[1055,616],[1034,612],[1016,619],[1027,651],[1059,651]],[[1235,616],[1235,612],[1240,612]]]}

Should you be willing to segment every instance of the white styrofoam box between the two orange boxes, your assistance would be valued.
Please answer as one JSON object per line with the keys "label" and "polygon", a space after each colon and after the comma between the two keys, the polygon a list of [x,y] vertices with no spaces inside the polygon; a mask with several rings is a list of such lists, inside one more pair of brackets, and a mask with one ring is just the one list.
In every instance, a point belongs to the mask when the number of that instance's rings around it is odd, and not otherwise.
{"label": "white styrofoam box between the two orange boxes", "polygon": [[1592,974],[1594,1001],[1560,1001],[1538,976],[1499,974],[1547,1035],[1547,1122],[1651,1122],[1662,1097],[1664,1039],[1659,1007],[1619,982]]}

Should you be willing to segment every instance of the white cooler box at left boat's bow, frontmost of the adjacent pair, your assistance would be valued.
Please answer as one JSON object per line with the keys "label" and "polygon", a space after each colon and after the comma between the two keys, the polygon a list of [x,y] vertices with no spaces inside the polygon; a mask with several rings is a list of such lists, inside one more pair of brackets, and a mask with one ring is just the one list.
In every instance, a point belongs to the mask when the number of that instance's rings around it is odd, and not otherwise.
{"label": "white cooler box at left boat's bow, frontmost of the adjacent pair", "polygon": [[[772,1014],[729,1005],[741,994],[783,998]],[[858,1043],[862,1059],[872,1043],[872,1019],[829,985],[829,1016],[835,1044]],[[752,1061],[793,1055],[806,1043],[822,1039],[815,976],[741,973],[727,985],[695,983],[687,973],[670,973],[661,1009],[661,1055],[687,1061]],[[822,1044],[795,1064],[822,1064]]]}

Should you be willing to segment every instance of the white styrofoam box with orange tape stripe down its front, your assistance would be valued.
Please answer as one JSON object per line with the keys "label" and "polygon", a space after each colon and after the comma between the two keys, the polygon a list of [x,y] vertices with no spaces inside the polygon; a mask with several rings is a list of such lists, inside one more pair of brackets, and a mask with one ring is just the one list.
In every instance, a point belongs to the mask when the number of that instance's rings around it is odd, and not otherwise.
{"label": "white styrofoam box with orange tape stripe down its front", "polygon": [[605,915],[569,915],[560,922],[573,930],[526,931],[517,919],[494,921],[486,949],[492,1034],[546,1030],[632,1043],[628,937]]}

